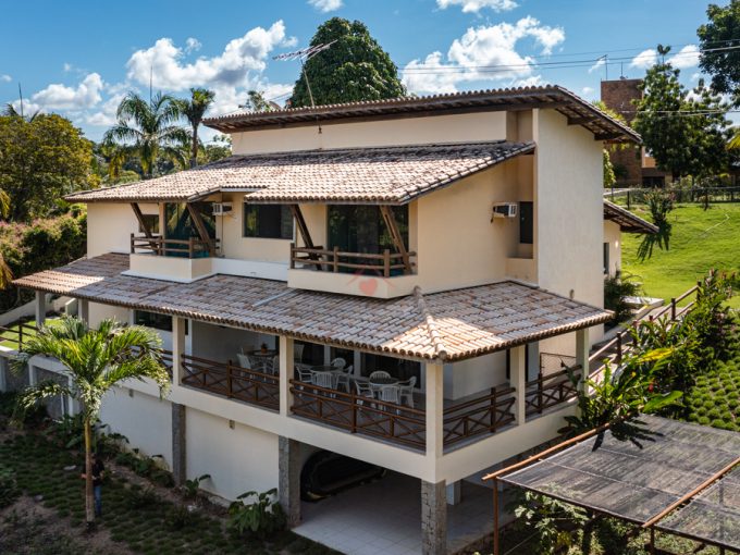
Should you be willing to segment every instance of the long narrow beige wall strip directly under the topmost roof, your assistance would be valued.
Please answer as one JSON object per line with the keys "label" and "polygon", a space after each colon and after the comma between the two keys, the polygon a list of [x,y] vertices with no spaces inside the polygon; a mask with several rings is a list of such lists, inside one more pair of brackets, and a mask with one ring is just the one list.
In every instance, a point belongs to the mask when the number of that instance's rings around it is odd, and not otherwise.
{"label": "long narrow beige wall strip directly under the topmost roof", "polygon": [[232,134],[235,155],[331,148],[470,143],[506,138],[506,112],[323,123]]}

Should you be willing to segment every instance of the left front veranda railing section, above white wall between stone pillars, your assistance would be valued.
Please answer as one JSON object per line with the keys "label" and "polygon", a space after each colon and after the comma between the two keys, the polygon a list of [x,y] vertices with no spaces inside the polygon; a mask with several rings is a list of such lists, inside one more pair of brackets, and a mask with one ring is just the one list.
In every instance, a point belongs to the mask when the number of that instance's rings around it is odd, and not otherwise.
{"label": "left front veranda railing section, above white wall between stone pillars", "polygon": [[250,405],[280,408],[280,378],[205,358],[182,355],[182,383]]}

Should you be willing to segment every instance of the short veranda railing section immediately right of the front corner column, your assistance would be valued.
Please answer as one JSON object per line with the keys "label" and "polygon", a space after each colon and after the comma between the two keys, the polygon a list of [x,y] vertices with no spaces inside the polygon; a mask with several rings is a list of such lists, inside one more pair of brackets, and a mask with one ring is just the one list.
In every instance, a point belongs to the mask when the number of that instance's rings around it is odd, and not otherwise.
{"label": "short veranda railing section immediately right of the front corner column", "polygon": [[496,433],[514,422],[514,387],[491,387],[483,395],[444,410],[444,445],[483,433]]}

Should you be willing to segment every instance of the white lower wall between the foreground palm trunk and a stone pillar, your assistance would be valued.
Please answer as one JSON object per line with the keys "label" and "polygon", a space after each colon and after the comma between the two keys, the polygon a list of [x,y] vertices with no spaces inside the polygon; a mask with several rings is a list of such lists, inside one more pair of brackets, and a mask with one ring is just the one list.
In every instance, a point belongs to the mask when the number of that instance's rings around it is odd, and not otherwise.
{"label": "white lower wall between the foreground palm trunk and a stone pillar", "polygon": [[172,468],[172,405],[140,391],[114,387],[102,402],[100,420],[128,437],[128,447],[148,456],[162,455]]}

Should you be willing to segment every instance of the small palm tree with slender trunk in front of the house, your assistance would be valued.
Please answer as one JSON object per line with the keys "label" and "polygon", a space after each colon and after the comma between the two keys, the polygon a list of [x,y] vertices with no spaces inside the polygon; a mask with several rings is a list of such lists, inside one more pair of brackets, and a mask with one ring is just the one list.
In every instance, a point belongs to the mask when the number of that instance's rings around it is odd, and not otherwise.
{"label": "small palm tree with slender trunk in front of the house", "polygon": [[59,325],[41,326],[38,334],[24,342],[14,361],[15,370],[27,368],[28,360],[42,355],[57,358],[65,368],[69,385],[51,380],[27,387],[20,396],[20,407],[27,409],[41,399],[67,395],[79,402],[85,430],[85,513],[95,520],[92,502],[91,423],[100,404],[113,385],[125,380],[150,378],[160,392],[166,392],[170,379],[161,362],[161,340],[148,328],[127,326],[103,320],[92,330],[78,318],[65,317]]}

